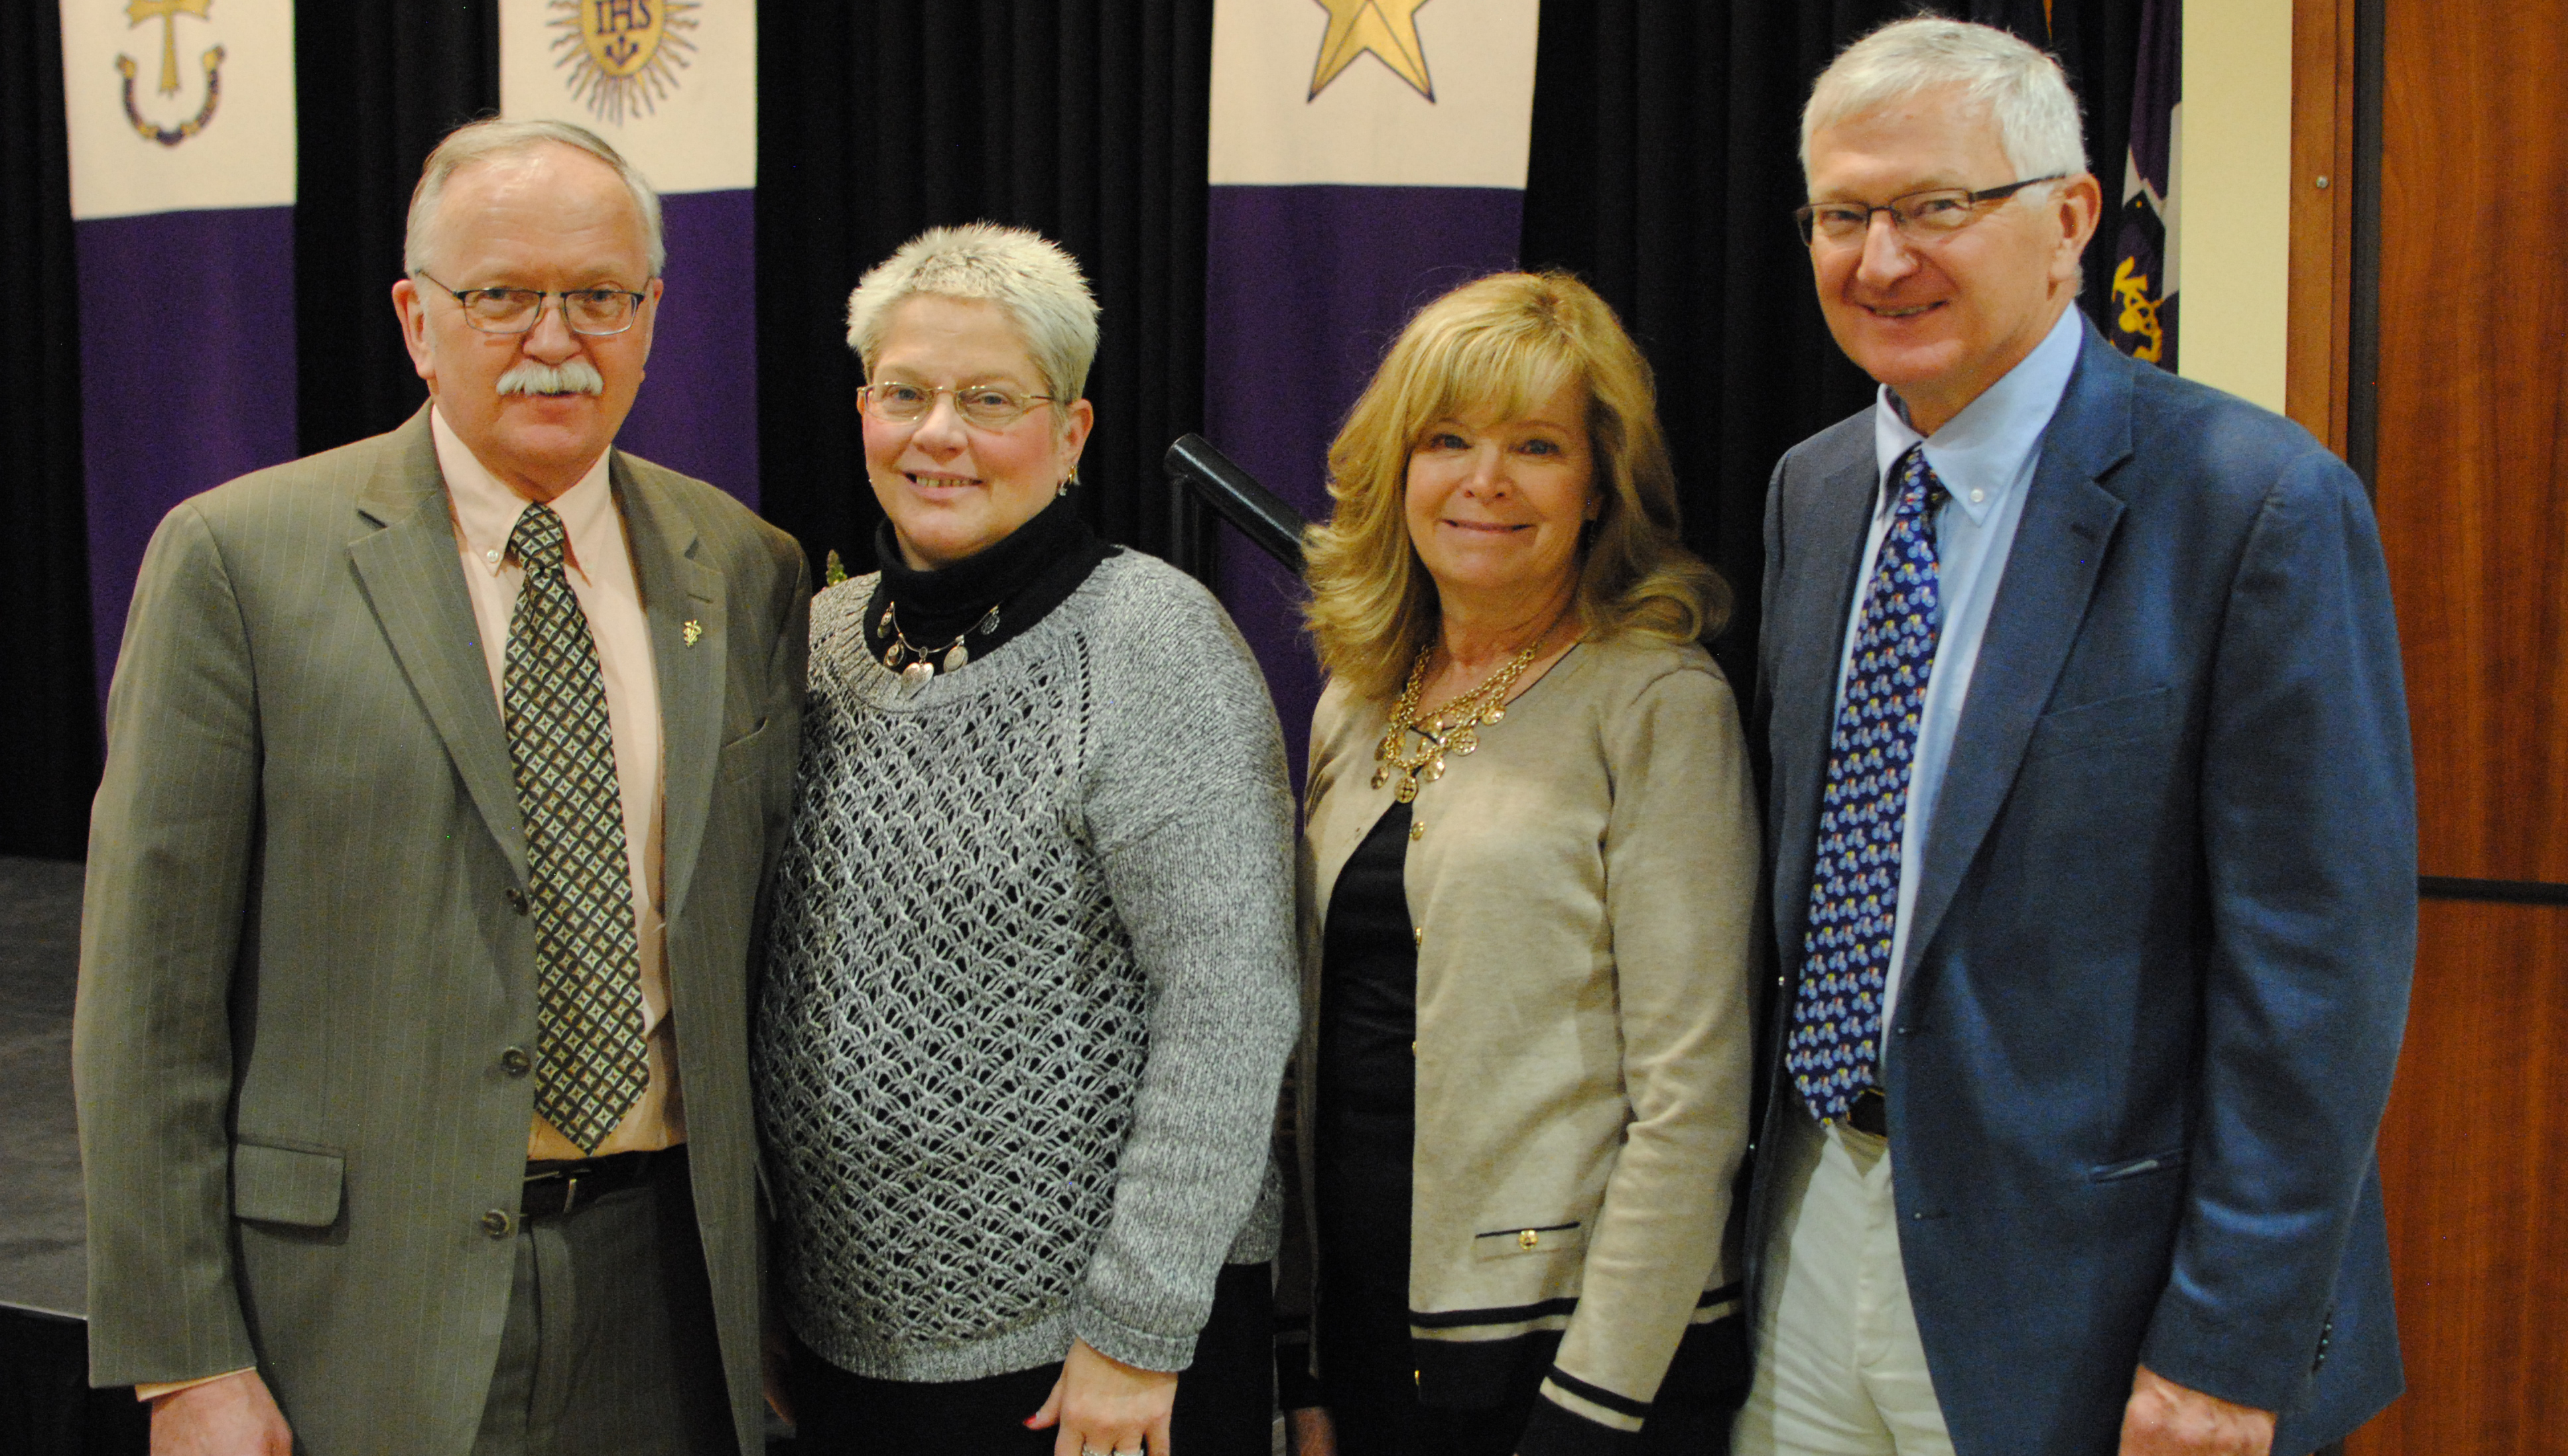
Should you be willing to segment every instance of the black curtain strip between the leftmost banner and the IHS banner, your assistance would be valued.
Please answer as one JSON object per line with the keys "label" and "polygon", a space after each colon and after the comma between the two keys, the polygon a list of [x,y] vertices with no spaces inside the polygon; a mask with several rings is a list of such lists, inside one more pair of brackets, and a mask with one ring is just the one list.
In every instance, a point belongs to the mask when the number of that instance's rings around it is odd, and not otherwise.
{"label": "black curtain strip between the leftmost banner and the IHS banner", "polygon": [[419,164],[498,110],[498,0],[295,8],[295,354],[303,455],[429,398],[393,316]]}

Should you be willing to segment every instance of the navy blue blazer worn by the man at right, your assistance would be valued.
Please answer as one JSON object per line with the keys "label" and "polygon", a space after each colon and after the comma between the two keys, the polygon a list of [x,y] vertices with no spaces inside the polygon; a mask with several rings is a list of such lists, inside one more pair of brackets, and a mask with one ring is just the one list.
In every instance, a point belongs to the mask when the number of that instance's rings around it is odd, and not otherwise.
{"label": "navy blue blazer worn by the man at right", "polygon": [[[1808,922],[1872,413],[1774,467],[1751,732],[1777,984]],[[2283,1412],[2401,1389],[2373,1138],[2416,809],[2363,483],[2093,326],[2042,439],[1926,840],[1885,1089],[1908,1292],[1962,1456],[2108,1456],[2131,1371]],[[1751,1197],[1751,1253],[1780,1209]],[[1751,1261],[1751,1279],[1757,1276]]]}

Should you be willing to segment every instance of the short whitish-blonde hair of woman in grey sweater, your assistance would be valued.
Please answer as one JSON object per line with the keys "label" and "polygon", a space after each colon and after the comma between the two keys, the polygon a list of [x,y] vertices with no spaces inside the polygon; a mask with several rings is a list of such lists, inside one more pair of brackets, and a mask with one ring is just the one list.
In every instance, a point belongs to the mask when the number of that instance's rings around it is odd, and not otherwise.
{"label": "short whitish-blonde hair of woman in grey sweater", "polygon": [[1097,298],[1079,262],[1043,234],[999,223],[927,229],[865,270],[847,295],[847,347],[865,362],[865,377],[883,352],[891,311],[922,295],[996,303],[1055,401],[1071,403],[1089,388]]}

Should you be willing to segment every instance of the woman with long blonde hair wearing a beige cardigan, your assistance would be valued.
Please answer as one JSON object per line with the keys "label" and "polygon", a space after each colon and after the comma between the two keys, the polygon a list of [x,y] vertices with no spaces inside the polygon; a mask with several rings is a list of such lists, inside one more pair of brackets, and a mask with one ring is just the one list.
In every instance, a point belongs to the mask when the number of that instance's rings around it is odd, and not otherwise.
{"label": "woman with long blonde hair wearing a beige cardigan", "polygon": [[1649,365],[1566,275],[1392,344],[1310,532],[1305,1453],[1718,1451],[1757,819]]}

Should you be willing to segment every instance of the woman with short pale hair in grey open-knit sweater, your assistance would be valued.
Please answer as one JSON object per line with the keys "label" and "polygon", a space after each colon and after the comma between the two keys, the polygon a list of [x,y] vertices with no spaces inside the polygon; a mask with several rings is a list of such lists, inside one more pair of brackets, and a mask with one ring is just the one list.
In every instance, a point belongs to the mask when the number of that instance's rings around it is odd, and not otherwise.
{"label": "woman with short pale hair in grey open-knit sweater", "polygon": [[1079,514],[1066,252],[919,234],[847,344],[883,526],[811,603],[752,1040],[778,1394],[806,1453],[1263,1456],[1294,1035],[1266,683],[1210,591]]}

